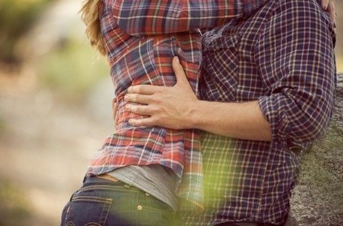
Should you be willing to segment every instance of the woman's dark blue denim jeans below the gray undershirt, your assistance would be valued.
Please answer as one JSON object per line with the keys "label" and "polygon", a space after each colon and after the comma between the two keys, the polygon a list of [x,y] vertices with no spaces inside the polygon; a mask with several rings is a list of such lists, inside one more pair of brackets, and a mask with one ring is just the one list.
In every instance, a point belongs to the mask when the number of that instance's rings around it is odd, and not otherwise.
{"label": "woman's dark blue denim jeans below the gray undershirt", "polygon": [[173,225],[173,209],[121,181],[85,177],[62,211],[61,225]]}

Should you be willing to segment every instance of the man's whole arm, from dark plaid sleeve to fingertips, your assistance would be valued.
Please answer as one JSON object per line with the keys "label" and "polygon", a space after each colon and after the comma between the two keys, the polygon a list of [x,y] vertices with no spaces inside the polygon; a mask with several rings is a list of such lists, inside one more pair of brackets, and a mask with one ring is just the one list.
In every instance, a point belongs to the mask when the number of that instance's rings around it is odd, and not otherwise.
{"label": "man's whole arm, from dark plaid sleeve to fingertips", "polygon": [[332,24],[313,1],[283,3],[287,5],[281,8],[287,10],[279,11],[281,16],[274,19],[284,22],[272,32],[265,30],[255,53],[263,84],[270,89],[268,95],[250,103],[198,101],[174,60],[176,86],[130,88],[126,100],[147,105],[128,105],[127,109],[150,116],[130,123],[274,140],[285,149],[320,136],[329,123],[335,92]]}

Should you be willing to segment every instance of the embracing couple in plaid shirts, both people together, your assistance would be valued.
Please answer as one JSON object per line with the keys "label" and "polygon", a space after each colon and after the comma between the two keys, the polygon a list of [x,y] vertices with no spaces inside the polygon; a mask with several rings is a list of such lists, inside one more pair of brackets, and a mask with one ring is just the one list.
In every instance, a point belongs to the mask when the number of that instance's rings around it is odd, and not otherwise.
{"label": "embracing couple in plaid shirts, both people together", "polygon": [[329,0],[88,0],[117,131],[61,225],[284,225],[335,95]]}

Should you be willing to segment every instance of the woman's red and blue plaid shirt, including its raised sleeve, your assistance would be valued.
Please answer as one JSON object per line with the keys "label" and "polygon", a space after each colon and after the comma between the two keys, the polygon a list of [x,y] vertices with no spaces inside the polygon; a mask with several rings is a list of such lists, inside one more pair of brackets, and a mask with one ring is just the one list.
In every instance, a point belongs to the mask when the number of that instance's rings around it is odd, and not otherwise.
{"label": "woman's red and blue plaid shirt, including its raised sleeve", "polygon": [[[123,96],[131,85],[173,86],[171,60],[178,55],[196,91],[201,60],[197,28],[223,25],[242,18],[263,1],[141,1],[104,0],[102,34],[119,108],[119,129],[104,141],[88,166],[88,175],[108,173],[128,165],[161,164],[180,177],[178,195],[202,206],[200,132],[161,127],[134,127]],[[248,10],[246,10],[248,9]],[[154,36],[152,36],[154,34]],[[136,35],[136,36],[135,36]],[[142,36],[138,36],[142,35]]]}

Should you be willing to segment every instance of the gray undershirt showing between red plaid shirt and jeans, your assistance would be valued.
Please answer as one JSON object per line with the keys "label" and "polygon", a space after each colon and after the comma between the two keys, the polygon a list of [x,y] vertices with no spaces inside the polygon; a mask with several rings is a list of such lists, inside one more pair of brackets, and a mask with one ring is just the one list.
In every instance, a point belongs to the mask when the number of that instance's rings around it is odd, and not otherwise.
{"label": "gray undershirt showing between red plaid shirt and jeans", "polygon": [[109,175],[151,194],[153,197],[167,203],[176,212],[178,199],[176,197],[177,176],[164,166],[126,166],[110,171]]}

